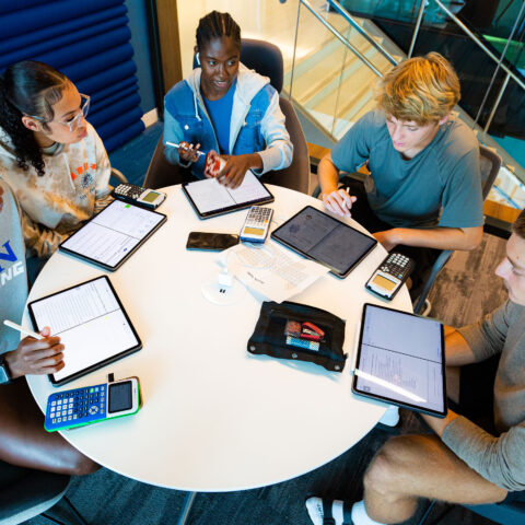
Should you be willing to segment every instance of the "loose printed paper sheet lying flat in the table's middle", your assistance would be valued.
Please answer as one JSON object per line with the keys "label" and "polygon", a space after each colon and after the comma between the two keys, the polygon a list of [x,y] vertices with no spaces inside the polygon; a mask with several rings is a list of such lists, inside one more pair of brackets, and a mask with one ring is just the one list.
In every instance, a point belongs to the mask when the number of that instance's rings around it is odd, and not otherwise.
{"label": "loose printed paper sheet lying flat in the table's middle", "polygon": [[243,284],[277,303],[302,292],[328,272],[325,266],[288,255],[272,243],[260,247],[238,244],[221,252],[219,260]]}

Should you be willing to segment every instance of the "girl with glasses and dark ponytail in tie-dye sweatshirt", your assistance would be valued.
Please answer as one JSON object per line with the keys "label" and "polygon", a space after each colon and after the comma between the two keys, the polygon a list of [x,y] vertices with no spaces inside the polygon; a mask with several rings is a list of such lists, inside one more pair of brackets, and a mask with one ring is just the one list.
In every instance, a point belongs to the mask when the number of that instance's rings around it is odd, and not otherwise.
{"label": "girl with glasses and dark ponytail in tie-dye sweatshirt", "polygon": [[19,199],[30,255],[49,257],[110,200],[109,160],[89,107],[46,63],[14,63],[0,80],[0,177]]}

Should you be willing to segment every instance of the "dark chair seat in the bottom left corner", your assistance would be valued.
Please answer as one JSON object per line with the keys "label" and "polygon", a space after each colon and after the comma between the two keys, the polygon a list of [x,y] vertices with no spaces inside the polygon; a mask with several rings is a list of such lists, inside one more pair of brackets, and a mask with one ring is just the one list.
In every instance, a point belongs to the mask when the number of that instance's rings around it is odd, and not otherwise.
{"label": "dark chair seat in the bottom left corner", "polygon": [[70,476],[18,467],[0,460],[0,525],[18,525],[38,515],[51,523],[65,525],[49,514],[44,514],[61,499],[79,522],[86,525],[65,497],[70,480]]}

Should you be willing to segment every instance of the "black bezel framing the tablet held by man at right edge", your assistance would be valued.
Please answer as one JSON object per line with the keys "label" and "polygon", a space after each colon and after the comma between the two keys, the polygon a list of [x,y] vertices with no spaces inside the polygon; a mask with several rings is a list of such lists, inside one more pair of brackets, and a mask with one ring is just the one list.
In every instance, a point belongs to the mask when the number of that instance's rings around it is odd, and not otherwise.
{"label": "black bezel framing the tablet held by man at right edge", "polygon": [[[365,316],[366,316],[366,308],[369,306],[374,307],[374,308],[390,310],[390,311],[397,312],[401,315],[408,315],[408,316],[411,316],[411,317],[428,319],[427,317],[423,317],[421,315],[416,315],[416,314],[412,314],[412,313],[409,313],[409,312],[402,312],[402,311],[396,310],[396,308],[388,308],[387,306],[383,306],[383,305],[380,305],[380,304],[364,303],[363,314],[361,316],[359,342],[358,342],[357,355],[355,355],[355,369],[358,369],[358,370],[359,370],[359,362],[360,362],[360,359],[361,359],[364,320],[365,320]],[[431,319],[429,319],[429,320],[431,320]],[[358,396],[368,397],[370,399],[376,399],[376,400],[380,400],[380,401],[388,402],[390,405],[405,407],[405,408],[408,408],[410,410],[415,410],[417,412],[428,413],[428,415],[434,416],[436,418],[441,418],[441,419],[445,418],[446,413],[447,413],[447,398],[446,398],[446,376],[445,376],[445,335],[444,335],[443,324],[441,324],[441,330],[440,331],[441,331],[441,357],[442,357],[442,364],[441,364],[442,371],[441,371],[441,373],[442,373],[442,377],[443,377],[443,412],[440,412],[438,410],[431,410],[431,409],[418,406],[416,404],[399,401],[397,399],[393,399],[393,398],[389,398],[389,397],[380,396],[377,394],[371,394],[369,392],[360,390],[358,388],[358,377],[359,376],[355,375],[355,374],[353,374],[353,377],[352,377],[352,393],[358,395]]]}

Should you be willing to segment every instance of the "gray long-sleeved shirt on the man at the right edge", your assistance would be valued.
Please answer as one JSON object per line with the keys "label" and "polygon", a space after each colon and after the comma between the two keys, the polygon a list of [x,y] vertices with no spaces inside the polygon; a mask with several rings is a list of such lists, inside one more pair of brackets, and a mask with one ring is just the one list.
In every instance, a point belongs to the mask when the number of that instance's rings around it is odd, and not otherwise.
{"label": "gray long-sleeved shirt on the man at the right edge", "polygon": [[508,301],[458,331],[476,361],[501,353],[493,407],[500,435],[459,416],[445,428],[443,443],[485,479],[506,490],[525,490],[525,307]]}

